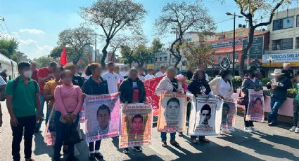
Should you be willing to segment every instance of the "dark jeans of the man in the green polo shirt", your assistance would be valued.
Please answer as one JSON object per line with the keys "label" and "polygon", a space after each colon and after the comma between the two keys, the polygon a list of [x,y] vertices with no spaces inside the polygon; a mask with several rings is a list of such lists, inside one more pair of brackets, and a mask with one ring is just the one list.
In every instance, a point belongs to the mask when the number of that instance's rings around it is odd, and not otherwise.
{"label": "dark jeans of the man in the green polo shirt", "polygon": [[24,134],[25,159],[30,159],[32,154],[32,137],[36,123],[36,116],[17,118],[18,125],[11,127],[13,130],[12,155],[14,161],[20,160],[20,143]]}

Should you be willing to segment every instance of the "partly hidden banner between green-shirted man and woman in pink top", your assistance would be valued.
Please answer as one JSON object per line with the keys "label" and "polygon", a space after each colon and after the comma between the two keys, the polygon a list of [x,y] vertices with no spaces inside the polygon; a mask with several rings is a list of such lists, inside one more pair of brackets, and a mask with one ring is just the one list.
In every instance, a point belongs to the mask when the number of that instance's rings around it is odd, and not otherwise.
{"label": "partly hidden banner between green-shirted man and woman in pink top", "polygon": [[49,115],[49,120],[46,123],[46,130],[44,131],[44,143],[47,146],[53,146],[56,140],[55,109],[56,109],[56,103],[53,104],[53,108]]}

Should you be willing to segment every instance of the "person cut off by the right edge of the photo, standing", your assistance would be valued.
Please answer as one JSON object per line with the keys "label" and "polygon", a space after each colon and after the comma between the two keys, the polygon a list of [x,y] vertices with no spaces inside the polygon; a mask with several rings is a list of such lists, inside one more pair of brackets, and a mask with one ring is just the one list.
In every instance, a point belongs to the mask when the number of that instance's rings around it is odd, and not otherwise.
{"label": "person cut off by the right edge of the photo, standing", "polygon": [[299,76],[296,76],[295,90],[297,90],[297,94],[293,100],[293,127],[290,132],[299,133]]}

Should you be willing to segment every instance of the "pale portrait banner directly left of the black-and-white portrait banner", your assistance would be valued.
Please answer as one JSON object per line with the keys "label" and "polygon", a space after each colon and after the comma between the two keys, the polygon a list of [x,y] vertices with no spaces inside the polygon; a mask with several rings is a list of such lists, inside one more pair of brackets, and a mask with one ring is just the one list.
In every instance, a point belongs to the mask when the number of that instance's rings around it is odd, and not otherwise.
{"label": "pale portrait banner directly left of the black-and-white portrait banner", "polygon": [[186,94],[161,94],[157,123],[158,132],[184,132],[185,127]]}

